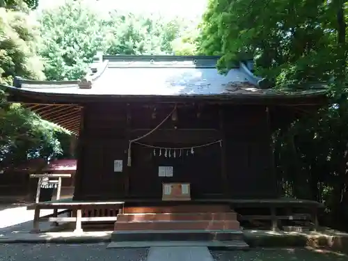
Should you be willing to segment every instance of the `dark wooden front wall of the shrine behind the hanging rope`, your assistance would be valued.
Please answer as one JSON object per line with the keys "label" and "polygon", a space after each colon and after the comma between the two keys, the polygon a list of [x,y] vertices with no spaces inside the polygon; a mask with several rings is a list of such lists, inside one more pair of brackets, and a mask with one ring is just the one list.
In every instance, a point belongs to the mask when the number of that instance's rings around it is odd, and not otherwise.
{"label": "dark wooden front wall of the shrine behind the hanging rope", "polygon": [[[184,157],[165,158],[133,144],[127,167],[128,141],[148,133],[172,110],[173,104],[85,106],[75,198],[160,199],[162,182],[191,182],[193,198],[276,197],[266,106],[179,105],[177,120],[168,119],[139,142],[182,148],[223,139],[223,147],[216,143],[193,155],[184,151]],[[113,172],[114,159],[123,160],[122,173]],[[158,166],[173,166],[173,177],[158,177]]]}

